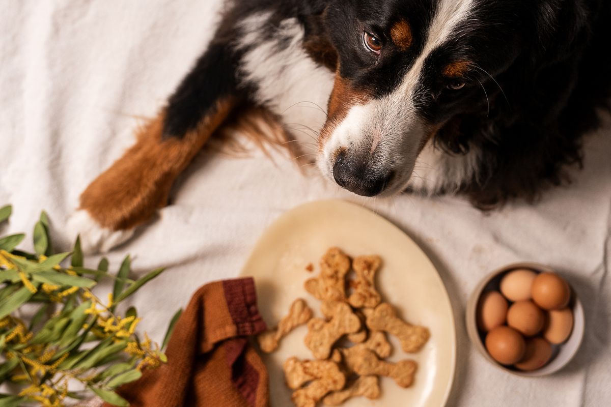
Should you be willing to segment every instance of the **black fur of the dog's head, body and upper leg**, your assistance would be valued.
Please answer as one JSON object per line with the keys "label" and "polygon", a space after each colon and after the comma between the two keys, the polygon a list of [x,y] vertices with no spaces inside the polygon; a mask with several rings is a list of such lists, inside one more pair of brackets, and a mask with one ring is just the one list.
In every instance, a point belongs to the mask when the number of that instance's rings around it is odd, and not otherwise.
{"label": "black fur of the dog's head, body and upper leg", "polygon": [[[181,137],[227,96],[249,102],[257,84],[243,84],[235,48],[238,24],[262,10],[304,25],[304,48],[373,97],[392,91],[425,44],[434,0],[238,0],[215,39],[169,99],[164,134]],[[598,124],[611,89],[611,2],[606,0],[478,0],[474,18],[426,60],[419,112],[441,125],[434,142],[447,154],[481,151],[481,168],[461,192],[478,207],[509,198],[534,200],[566,180],[563,167],[582,161],[582,135]],[[414,46],[392,49],[389,29],[409,21]],[[354,32],[376,34],[389,46],[376,63]],[[272,35],[272,34],[270,34]],[[461,90],[440,75],[456,59],[472,62]]]}

